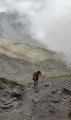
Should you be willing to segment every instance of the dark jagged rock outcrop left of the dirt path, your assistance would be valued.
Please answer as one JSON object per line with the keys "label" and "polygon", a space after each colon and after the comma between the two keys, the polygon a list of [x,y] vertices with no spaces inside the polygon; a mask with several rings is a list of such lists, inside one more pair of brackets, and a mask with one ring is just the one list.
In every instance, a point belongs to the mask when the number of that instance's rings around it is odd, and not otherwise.
{"label": "dark jagged rock outcrop left of the dirt path", "polygon": [[0,110],[19,107],[22,104],[24,86],[16,81],[0,78]]}

